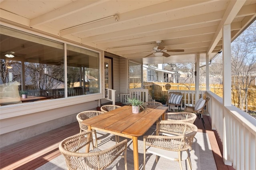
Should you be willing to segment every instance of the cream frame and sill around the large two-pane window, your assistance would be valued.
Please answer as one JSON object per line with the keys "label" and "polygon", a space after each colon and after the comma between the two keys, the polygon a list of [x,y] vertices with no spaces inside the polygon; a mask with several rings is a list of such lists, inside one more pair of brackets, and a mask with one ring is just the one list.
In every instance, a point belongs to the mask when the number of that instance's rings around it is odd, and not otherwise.
{"label": "cream frame and sill around the large two-pane window", "polygon": [[[11,105],[4,105],[0,106],[1,107],[1,113],[0,113],[0,119],[6,119],[10,117],[16,117],[20,115],[26,115],[26,114],[31,114],[31,113],[36,113],[40,111],[46,111],[50,109],[55,109],[58,107],[66,107],[66,106],[71,106],[74,104],[81,104],[85,102],[90,102],[90,101],[95,101],[95,100],[100,100],[104,98],[103,95],[103,85],[102,85],[102,80],[103,80],[103,69],[102,65],[104,62],[104,52],[101,50],[96,50],[93,48],[88,48],[76,43],[72,43],[69,41],[64,41],[62,39],[58,39],[56,37],[51,37],[49,35],[44,35],[42,33],[38,33],[26,28],[10,25],[8,23],[1,23],[0,25],[9,27],[11,29],[17,29],[19,31],[24,31],[25,33],[31,33],[33,35],[41,36],[50,40],[58,41],[60,43],[64,43],[64,75],[65,75],[65,97],[64,98],[59,98],[59,99],[51,99],[51,100],[41,100],[41,101],[36,101],[36,102],[28,102],[28,103],[19,103],[19,104],[11,104]],[[87,95],[81,95],[81,96],[72,96],[72,97],[67,97],[67,47],[66,45],[73,45],[76,47],[80,47],[83,49],[87,49],[90,51],[94,51],[96,53],[99,53],[99,70],[100,70],[100,92],[97,94],[87,94]]]}

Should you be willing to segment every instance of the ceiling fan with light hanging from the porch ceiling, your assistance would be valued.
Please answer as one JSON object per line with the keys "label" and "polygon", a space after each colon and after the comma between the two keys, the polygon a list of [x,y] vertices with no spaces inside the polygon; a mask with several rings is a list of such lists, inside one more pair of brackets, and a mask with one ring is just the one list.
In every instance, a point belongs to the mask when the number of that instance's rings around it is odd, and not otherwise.
{"label": "ceiling fan with light hanging from the porch ceiling", "polygon": [[151,51],[153,53],[146,55],[145,57],[148,57],[152,54],[154,54],[155,57],[162,57],[162,56],[169,57],[170,55],[166,52],[184,52],[184,49],[165,50],[164,46],[159,46],[162,43],[161,40],[156,41],[156,43],[157,43],[157,46],[153,47],[153,51]]}

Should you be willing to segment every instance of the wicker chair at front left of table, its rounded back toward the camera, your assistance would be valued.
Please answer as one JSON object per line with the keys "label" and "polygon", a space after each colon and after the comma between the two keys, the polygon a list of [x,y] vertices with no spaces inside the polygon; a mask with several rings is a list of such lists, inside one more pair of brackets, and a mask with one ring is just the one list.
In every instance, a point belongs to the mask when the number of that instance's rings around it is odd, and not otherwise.
{"label": "wicker chair at front left of table, its rounded back toward the camera", "polygon": [[[84,152],[85,146],[90,143],[92,150]],[[119,156],[124,158],[127,170],[127,139],[108,149],[100,150],[93,145],[92,131],[87,131],[64,139],[60,142],[59,150],[64,155],[69,170],[103,170],[112,162],[116,162]]]}

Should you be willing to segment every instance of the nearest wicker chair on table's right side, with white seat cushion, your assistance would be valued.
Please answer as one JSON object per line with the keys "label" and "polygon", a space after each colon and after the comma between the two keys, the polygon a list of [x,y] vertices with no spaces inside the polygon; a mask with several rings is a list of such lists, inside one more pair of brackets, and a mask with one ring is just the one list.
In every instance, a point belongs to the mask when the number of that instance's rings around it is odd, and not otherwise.
{"label": "nearest wicker chair on table's right side, with white seat cushion", "polygon": [[[187,160],[188,166],[190,170],[192,170],[189,150],[192,147],[194,136],[198,130],[196,125],[188,122],[168,121],[166,122],[165,127],[166,131],[173,131],[173,133],[176,133],[176,136],[162,136],[158,135],[158,132],[156,135],[143,136],[143,169],[145,170],[146,152],[148,152],[156,155],[156,162],[158,162],[158,156],[169,160],[178,161],[181,170],[181,161]],[[174,129],[171,130],[171,128]]]}

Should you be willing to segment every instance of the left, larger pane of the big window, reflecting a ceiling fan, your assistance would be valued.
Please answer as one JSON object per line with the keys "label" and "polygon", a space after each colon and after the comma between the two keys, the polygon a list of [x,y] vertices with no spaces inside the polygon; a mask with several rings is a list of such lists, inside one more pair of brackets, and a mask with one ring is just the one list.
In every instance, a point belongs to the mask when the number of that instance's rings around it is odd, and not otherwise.
{"label": "left, larger pane of the big window, reflecting a ceiling fan", "polygon": [[64,44],[3,26],[0,33],[1,105],[63,98]]}

